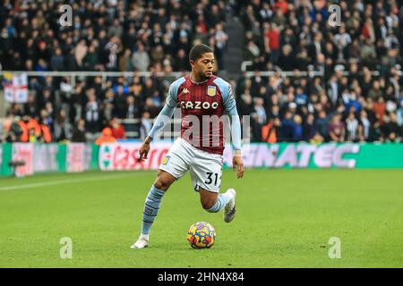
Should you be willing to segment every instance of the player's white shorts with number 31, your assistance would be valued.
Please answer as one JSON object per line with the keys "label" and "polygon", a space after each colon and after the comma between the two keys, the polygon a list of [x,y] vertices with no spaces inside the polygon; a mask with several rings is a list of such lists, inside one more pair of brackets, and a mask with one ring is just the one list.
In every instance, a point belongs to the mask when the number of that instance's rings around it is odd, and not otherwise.
{"label": "player's white shorts with number 31", "polygon": [[218,193],[223,162],[223,156],[202,151],[178,138],[163,158],[159,170],[169,172],[176,180],[190,171],[194,190],[201,188]]}

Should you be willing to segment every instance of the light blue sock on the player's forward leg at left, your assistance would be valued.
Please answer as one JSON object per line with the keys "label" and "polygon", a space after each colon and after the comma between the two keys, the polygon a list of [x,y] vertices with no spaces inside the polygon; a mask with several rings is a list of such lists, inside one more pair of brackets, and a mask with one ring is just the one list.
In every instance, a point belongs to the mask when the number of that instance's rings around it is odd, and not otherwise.
{"label": "light blue sock on the player's forward leg at left", "polygon": [[149,234],[152,223],[159,213],[159,205],[161,199],[165,195],[165,191],[151,186],[149,194],[144,203],[144,211],[142,213],[141,234]]}

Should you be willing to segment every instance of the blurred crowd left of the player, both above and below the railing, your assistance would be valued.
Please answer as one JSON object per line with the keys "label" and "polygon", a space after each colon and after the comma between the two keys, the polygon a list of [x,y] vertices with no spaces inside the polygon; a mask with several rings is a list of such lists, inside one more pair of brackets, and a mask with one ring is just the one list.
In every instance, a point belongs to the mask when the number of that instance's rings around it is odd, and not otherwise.
{"label": "blurred crowd left of the player, both above and below the railing", "polygon": [[[62,4],[73,8],[72,26],[58,22]],[[190,71],[191,46],[212,46],[216,69],[223,68],[225,10],[225,1],[209,0],[0,2],[3,70],[133,71],[132,77],[106,82],[101,77],[75,83],[70,78],[30,77],[28,103],[13,104],[7,111],[4,140],[35,140],[33,135],[27,139],[11,134],[33,134],[28,122],[37,122],[49,130],[35,128],[39,141],[75,141],[74,130],[80,129],[93,141],[117,119],[141,121],[126,129],[143,136],[175,80],[171,72]],[[166,76],[145,79],[137,71],[163,71]],[[42,133],[50,133],[52,139]]]}

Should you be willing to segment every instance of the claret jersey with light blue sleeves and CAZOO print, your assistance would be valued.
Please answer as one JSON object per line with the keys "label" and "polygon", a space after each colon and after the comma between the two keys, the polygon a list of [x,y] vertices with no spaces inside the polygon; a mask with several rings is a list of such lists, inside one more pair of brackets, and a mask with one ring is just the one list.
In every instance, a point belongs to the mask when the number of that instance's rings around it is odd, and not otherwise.
{"label": "claret jersey with light blue sleeves and CAZOO print", "polygon": [[[214,118],[221,119],[224,114],[228,114],[232,119],[233,145],[235,149],[241,148],[241,127],[236,100],[227,81],[213,75],[208,80],[193,82],[189,75],[184,76],[169,87],[167,102],[160,114],[170,118],[176,106],[182,111],[181,137],[194,147],[222,155],[225,145],[224,124],[222,121],[211,122]],[[199,122],[200,125],[194,128],[194,122]],[[150,137],[153,138],[166,123],[159,122],[158,118],[150,130]],[[210,126],[203,126],[205,124]],[[189,129],[192,131],[186,132]],[[204,133],[204,130],[208,132]]]}

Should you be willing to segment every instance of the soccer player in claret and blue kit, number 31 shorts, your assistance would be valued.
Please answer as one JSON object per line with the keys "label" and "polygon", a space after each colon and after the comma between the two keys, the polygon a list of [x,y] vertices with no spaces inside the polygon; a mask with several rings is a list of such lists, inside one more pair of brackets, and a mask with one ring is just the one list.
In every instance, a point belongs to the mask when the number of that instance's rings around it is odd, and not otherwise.
{"label": "soccer player in claret and blue kit, number 31 shorts", "polygon": [[170,85],[166,104],[139,151],[140,160],[147,159],[150,142],[169,122],[179,104],[182,111],[181,137],[176,139],[159,166],[157,179],[145,200],[140,238],[131,248],[149,246],[150,228],[159,212],[161,199],[171,184],[187,171],[191,173],[194,190],[200,194],[201,206],[207,212],[217,213],[224,209],[227,223],[236,214],[236,190],[219,193],[224,151],[224,124],[220,119],[224,113],[229,115],[232,125],[233,168],[237,168],[238,179],[244,176],[236,100],[227,81],[212,73],[215,60],[210,46],[193,46],[189,61],[191,74]]}

